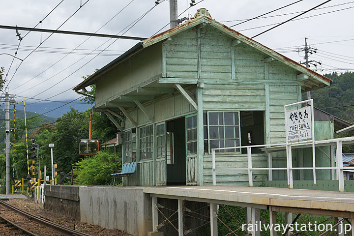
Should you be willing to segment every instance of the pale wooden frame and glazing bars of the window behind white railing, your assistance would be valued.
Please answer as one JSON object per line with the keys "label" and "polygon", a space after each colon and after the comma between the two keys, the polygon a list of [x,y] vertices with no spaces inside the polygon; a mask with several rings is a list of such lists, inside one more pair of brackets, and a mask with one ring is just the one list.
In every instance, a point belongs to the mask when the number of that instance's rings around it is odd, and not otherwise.
{"label": "pale wooden frame and glazing bars of the window behind white railing", "polygon": [[[209,122],[209,114],[210,113],[223,113],[223,124],[222,125],[211,125],[211,126],[223,126],[223,131],[224,131],[224,147],[225,147],[225,140],[233,140],[233,139],[225,139],[225,113],[237,113],[238,115],[238,124],[237,125],[226,125],[226,126],[238,126],[238,144],[239,147],[241,147],[241,119],[240,119],[240,111],[207,111],[207,141],[208,141],[208,154],[211,155],[211,148],[210,148],[210,122]],[[203,129],[204,129],[204,123],[203,123]],[[236,139],[236,138],[235,138]],[[213,139],[212,139],[213,140]],[[237,140],[237,139],[236,139]],[[203,142],[204,142],[204,137],[203,137]],[[239,151],[224,151],[224,152],[216,152],[215,154],[241,154],[241,148],[235,148],[238,149]]]}

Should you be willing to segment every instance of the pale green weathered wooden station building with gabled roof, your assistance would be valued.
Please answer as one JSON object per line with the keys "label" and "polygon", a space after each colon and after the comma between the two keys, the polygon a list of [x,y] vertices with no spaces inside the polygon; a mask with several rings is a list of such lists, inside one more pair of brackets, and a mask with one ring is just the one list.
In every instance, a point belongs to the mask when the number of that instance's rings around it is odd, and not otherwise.
{"label": "pale green weathered wooden station building with gabled roof", "polygon": [[[201,8],[191,20],[139,42],[74,90],[94,84],[95,111],[106,113],[122,133],[122,162],[137,162],[124,185],[211,185],[211,148],[285,143],[284,105],[330,82]],[[317,120],[315,129],[319,139],[333,138],[333,120]],[[329,166],[329,147],[323,151],[316,161]],[[293,151],[293,165],[311,165],[311,150],[301,152]],[[266,167],[267,154],[252,148],[252,161]],[[284,151],[273,155],[273,166],[285,162]],[[246,150],[217,152],[216,166],[247,167]],[[295,179],[312,176],[296,173]],[[273,171],[272,179],[284,175]],[[328,170],[318,175],[331,179]],[[217,184],[248,185],[247,171],[217,176]],[[267,179],[265,171],[253,173],[255,185]]]}

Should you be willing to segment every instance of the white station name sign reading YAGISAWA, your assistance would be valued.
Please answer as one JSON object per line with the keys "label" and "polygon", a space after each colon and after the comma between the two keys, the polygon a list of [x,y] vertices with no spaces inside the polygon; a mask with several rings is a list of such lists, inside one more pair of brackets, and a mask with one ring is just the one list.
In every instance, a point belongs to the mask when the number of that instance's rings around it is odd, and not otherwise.
{"label": "white station name sign reading YAGISAWA", "polygon": [[311,107],[302,107],[286,113],[287,142],[312,138]]}

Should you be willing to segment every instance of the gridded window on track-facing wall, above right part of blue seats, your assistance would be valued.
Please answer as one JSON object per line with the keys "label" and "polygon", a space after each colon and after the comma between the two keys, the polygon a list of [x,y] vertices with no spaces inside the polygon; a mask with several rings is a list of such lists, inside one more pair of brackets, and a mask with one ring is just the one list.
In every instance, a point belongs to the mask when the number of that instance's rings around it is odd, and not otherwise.
{"label": "gridded window on track-facing wall, above right part of blue seats", "polygon": [[139,128],[140,160],[153,158],[153,124]]}

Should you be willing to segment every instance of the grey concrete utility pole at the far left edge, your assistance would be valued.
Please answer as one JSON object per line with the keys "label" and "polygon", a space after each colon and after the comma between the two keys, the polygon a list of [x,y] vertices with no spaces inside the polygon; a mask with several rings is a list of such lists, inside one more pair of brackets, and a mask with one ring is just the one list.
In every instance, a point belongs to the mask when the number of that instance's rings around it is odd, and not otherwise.
{"label": "grey concrete utility pole at the far left edge", "polygon": [[6,194],[10,194],[10,98],[5,90]]}

